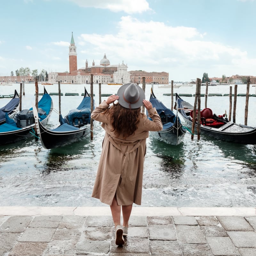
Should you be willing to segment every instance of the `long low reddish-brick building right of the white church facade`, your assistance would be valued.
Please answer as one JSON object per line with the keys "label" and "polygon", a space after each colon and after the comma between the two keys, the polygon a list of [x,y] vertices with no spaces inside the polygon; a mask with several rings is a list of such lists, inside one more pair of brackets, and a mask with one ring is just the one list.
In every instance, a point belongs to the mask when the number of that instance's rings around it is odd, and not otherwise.
{"label": "long low reddish-brick building right of the white church facade", "polygon": [[130,71],[130,81],[135,84],[142,84],[142,77],[145,77],[146,84],[169,84],[169,73],[167,72],[146,72],[142,70]]}

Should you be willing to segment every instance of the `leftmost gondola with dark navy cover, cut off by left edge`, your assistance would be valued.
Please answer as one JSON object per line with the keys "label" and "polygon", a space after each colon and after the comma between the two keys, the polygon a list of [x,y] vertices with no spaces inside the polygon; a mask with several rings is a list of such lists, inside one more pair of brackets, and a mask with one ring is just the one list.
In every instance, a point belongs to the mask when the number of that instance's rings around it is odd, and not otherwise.
{"label": "leftmost gondola with dark navy cover, cut off by left edge", "polygon": [[0,108],[0,125],[5,123],[5,113],[12,118],[19,111],[20,96],[15,90],[12,99],[3,107]]}

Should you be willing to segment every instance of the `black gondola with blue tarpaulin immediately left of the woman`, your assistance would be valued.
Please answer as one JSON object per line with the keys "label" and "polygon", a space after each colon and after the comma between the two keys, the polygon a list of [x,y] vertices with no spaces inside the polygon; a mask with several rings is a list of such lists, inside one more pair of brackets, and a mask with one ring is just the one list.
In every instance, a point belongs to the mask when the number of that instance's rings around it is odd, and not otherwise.
{"label": "black gondola with blue tarpaulin immediately left of the woman", "polygon": [[[35,115],[36,129],[44,148],[59,148],[82,140],[91,132],[91,97],[84,88],[84,98],[76,109],[69,111],[64,118],[60,115],[60,125],[47,129]],[[94,102],[93,102],[94,109]],[[34,110],[36,113],[36,109]]]}

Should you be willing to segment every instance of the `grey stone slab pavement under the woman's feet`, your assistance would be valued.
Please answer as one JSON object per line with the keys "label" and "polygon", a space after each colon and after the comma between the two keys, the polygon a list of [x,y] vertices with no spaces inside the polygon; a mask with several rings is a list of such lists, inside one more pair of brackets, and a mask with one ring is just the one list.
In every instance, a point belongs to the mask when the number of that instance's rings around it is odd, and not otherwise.
{"label": "grey stone slab pavement under the woman's feet", "polygon": [[111,215],[6,215],[0,209],[0,255],[256,255],[254,213],[156,216],[148,209],[147,216],[131,216],[123,246],[115,244]]}

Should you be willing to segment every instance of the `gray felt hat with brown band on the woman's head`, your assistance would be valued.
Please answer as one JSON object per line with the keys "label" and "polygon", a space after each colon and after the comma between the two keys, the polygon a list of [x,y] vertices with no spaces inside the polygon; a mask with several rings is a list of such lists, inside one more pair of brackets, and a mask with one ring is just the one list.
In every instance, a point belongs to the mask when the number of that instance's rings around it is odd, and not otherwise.
{"label": "gray felt hat with brown band on the woman's head", "polygon": [[145,100],[145,93],[137,84],[124,84],[117,93],[118,103],[124,108],[140,108]]}

